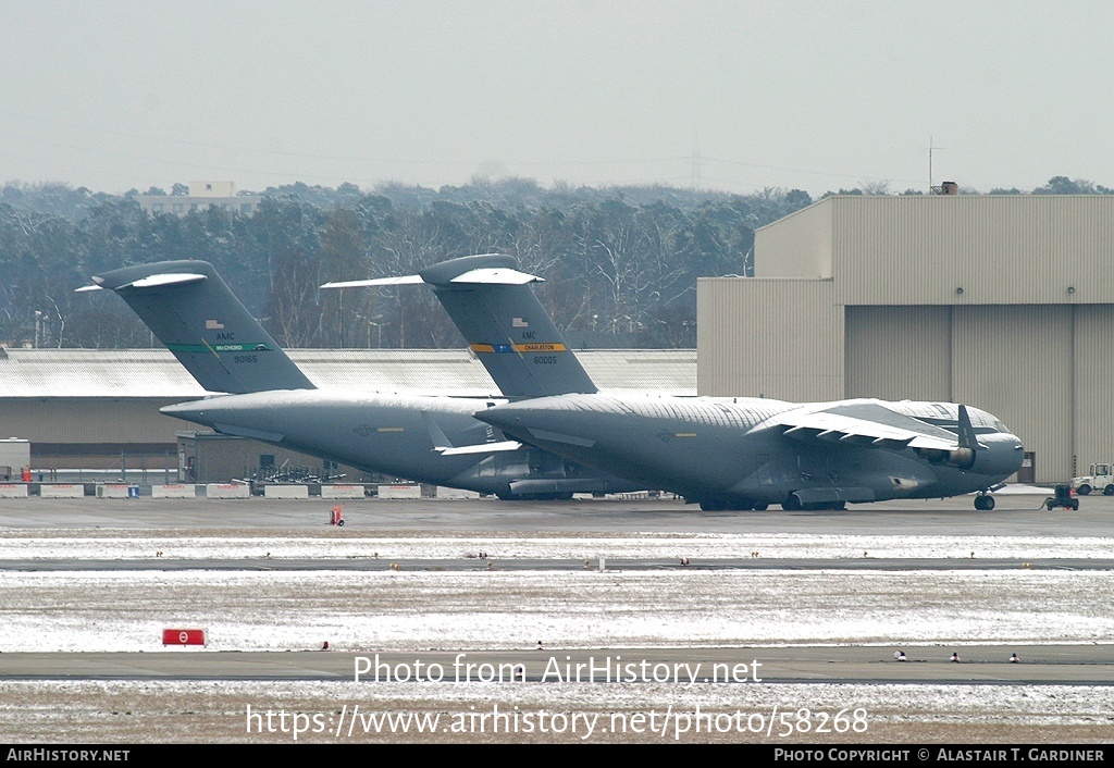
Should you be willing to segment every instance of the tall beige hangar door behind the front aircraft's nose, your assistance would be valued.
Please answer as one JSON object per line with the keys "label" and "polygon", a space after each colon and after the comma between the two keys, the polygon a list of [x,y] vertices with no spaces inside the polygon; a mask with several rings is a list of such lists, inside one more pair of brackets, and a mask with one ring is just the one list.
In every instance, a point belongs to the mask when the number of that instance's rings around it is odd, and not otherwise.
{"label": "tall beige hangar door behind the front aircraft's nose", "polygon": [[1073,361],[1085,310],[1091,308],[848,307],[847,396],[983,408],[1034,454],[1036,482],[1068,478],[1077,445],[1076,379],[1110,380],[1108,373],[1077,371]]}

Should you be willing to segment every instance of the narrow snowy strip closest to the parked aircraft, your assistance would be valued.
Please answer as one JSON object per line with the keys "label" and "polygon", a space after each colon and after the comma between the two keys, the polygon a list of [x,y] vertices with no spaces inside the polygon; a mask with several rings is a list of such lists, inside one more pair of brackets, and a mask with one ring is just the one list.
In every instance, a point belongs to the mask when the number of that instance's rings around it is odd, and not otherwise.
{"label": "narrow snowy strip closest to the parked aircraft", "polygon": [[273,536],[153,534],[136,531],[6,531],[3,560],[247,560],[371,558],[451,560],[486,553],[489,558],[661,558],[730,560],[948,558],[1040,560],[1114,558],[1114,537],[900,536],[808,534],[623,534],[622,536],[363,537],[345,535]]}

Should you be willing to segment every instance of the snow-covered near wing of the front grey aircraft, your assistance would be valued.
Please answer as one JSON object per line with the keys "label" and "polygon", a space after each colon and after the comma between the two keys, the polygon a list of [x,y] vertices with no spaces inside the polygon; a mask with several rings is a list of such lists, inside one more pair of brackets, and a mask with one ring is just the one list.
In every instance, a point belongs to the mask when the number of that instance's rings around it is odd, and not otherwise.
{"label": "snow-covered near wing of the front grey aircraft", "polygon": [[[966,414],[964,415],[966,416]],[[786,437],[901,450],[955,450],[959,437],[947,429],[890,410],[879,402],[846,402],[819,410],[800,409],[780,416]]]}

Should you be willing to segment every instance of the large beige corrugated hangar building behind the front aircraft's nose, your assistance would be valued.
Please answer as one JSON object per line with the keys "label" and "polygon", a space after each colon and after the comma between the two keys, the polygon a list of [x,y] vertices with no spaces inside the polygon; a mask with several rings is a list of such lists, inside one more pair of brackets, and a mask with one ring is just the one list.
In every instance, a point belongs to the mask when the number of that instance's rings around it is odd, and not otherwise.
{"label": "large beige corrugated hangar building behind the front aircraft's nose", "polygon": [[1114,459],[1114,196],[836,196],[697,285],[701,395],[985,408],[1020,480]]}

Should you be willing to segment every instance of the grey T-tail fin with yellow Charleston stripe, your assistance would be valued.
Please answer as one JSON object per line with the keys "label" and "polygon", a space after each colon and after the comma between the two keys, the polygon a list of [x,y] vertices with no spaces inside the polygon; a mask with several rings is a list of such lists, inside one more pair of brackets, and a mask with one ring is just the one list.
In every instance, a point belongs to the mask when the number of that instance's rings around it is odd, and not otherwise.
{"label": "grey T-tail fin with yellow Charleston stripe", "polygon": [[428,266],[417,275],[322,288],[428,283],[500,391],[512,398],[595,392],[596,386],[541,307],[514,256],[488,253]]}

